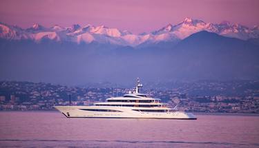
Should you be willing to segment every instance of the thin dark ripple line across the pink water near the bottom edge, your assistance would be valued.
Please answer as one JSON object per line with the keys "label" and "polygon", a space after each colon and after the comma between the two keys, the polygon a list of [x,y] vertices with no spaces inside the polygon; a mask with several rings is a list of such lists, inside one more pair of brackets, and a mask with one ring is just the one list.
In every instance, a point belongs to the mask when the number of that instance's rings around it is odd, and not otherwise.
{"label": "thin dark ripple line across the pink water near the bottom edge", "polygon": [[184,143],[184,144],[210,144],[210,145],[246,145],[259,146],[259,143],[231,143],[231,142],[189,142],[189,141],[126,141],[126,140],[44,140],[44,139],[0,139],[0,141],[21,142],[125,142],[125,143]]}

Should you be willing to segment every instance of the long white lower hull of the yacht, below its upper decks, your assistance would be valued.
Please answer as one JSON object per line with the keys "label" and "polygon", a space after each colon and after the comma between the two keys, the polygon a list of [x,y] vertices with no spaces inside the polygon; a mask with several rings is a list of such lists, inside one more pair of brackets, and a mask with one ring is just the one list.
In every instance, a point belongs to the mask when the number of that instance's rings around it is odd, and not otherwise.
{"label": "long white lower hull of the yacht, below its upper decks", "polygon": [[55,106],[55,108],[67,118],[197,119],[193,114],[186,112],[141,112],[145,109],[143,107]]}

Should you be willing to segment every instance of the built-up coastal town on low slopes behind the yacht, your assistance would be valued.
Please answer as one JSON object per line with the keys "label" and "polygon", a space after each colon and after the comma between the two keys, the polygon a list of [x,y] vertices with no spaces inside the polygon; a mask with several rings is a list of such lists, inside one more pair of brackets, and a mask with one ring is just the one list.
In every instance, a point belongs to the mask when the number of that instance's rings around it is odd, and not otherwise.
{"label": "built-up coastal town on low slopes behind the yacht", "polygon": [[[153,83],[143,91],[161,98],[170,107],[198,114],[259,114],[259,81],[197,81]],[[153,87],[153,88],[152,88]],[[167,87],[168,89],[159,89]],[[158,89],[155,89],[158,88]],[[55,111],[55,105],[93,105],[131,89],[113,87],[68,87],[50,83],[0,81],[0,110]]]}

